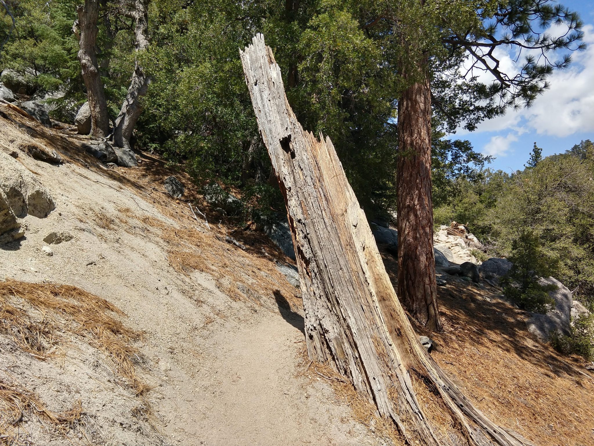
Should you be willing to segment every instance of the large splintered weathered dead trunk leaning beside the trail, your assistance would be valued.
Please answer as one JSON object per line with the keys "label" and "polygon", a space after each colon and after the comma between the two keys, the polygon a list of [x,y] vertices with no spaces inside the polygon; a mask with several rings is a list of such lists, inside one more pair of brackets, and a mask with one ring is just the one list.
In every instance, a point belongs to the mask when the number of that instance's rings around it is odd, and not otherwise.
{"label": "large splintered weathered dead trunk leaning beside the trail", "polygon": [[[241,51],[258,126],[285,196],[311,360],[329,363],[393,420],[409,445],[529,443],[486,419],[426,353],[400,306],[330,139],[304,131],[258,34]],[[431,394],[447,435],[419,404]]]}

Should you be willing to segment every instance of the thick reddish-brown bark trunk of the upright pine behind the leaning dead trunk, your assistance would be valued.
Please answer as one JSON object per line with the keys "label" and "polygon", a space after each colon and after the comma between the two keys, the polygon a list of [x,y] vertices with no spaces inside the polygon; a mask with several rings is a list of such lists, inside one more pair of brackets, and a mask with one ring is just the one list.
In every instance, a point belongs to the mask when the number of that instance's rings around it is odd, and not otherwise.
{"label": "thick reddish-brown bark trunk of the upright pine behind the leaning dead trunk", "polygon": [[408,87],[398,102],[398,296],[417,321],[441,331],[433,252],[431,90]]}

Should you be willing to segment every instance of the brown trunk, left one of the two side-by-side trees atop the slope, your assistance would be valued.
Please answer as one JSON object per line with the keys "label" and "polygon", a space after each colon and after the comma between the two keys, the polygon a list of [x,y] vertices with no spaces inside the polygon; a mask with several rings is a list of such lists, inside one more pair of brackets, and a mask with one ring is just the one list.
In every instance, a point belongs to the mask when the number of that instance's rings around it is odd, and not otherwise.
{"label": "brown trunk, left one of the two side-by-side trees atop the slope", "polygon": [[[77,8],[77,13],[80,26],[78,61],[80,61],[84,84],[87,87],[87,99],[91,111],[91,135],[96,138],[104,138],[109,134],[109,115],[95,48],[99,2],[85,0],[84,6],[81,5]],[[76,33],[75,27],[73,30]]]}

